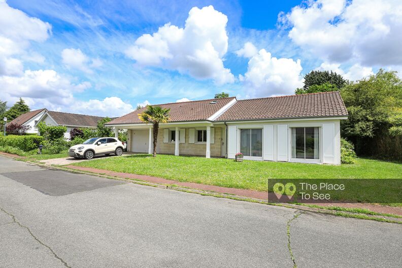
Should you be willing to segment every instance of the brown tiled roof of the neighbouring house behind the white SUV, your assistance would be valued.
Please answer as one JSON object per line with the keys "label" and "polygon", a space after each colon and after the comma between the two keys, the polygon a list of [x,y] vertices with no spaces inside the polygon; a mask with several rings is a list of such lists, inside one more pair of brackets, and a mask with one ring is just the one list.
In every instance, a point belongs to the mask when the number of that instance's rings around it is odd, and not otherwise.
{"label": "brown tiled roof of the neighbouring house behind the white SUV", "polygon": [[49,111],[48,113],[57,122],[57,124],[66,126],[96,127],[97,122],[104,118],[101,116],[70,114],[53,111]]}

